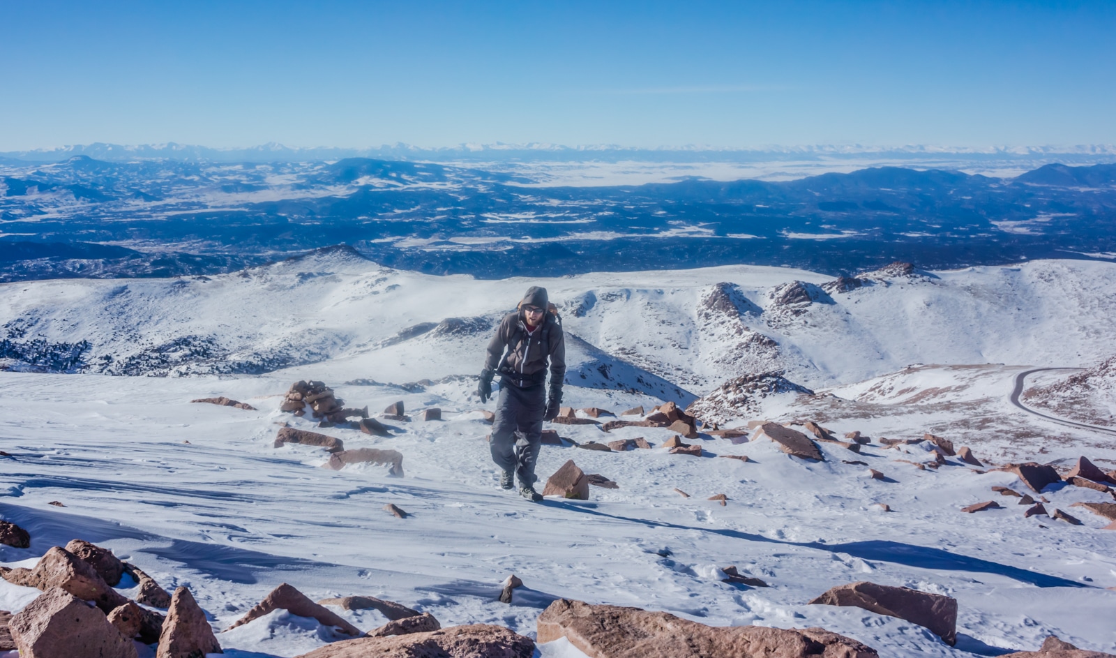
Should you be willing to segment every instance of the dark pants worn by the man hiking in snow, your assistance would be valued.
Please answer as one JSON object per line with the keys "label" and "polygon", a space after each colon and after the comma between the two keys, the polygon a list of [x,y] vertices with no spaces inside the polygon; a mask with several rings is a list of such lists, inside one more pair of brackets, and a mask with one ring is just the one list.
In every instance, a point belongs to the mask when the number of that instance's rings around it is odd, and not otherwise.
{"label": "dark pants worn by the man hiking in snow", "polygon": [[539,458],[546,411],[546,385],[521,389],[501,381],[490,449],[497,466],[516,471],[520,486],[535,484],[535,462]]}

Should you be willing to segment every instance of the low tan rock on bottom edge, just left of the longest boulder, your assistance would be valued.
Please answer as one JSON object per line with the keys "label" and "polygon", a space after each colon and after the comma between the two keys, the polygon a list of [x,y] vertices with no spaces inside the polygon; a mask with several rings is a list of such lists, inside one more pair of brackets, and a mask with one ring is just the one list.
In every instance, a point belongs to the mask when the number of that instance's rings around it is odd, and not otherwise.
{"label": "low tan rock on bottom edge, just left of the longest boulder", "polygon": [[298,658],[531,658],[535,642],[502,626],[475,623],[431,632],[333,642]]}

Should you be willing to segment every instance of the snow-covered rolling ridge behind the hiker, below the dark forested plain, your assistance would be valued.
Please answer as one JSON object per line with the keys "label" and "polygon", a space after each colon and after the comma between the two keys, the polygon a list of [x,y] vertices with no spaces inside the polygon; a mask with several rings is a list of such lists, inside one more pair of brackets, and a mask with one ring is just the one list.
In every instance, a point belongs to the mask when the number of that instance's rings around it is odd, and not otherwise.
{"label": "snow-covered rolling ridge behind the hiker, below the dark forested plain", "polygon": [[753,266],[478,280],[334,248],[213,277],[6,284],[0,355],[46,372],[317,363],[330,381],[475,376],[496,324],[536,284],[570,336],[569,383],[683,403],[747,372],[819,388],[912,363],[1090,365],[1112,352],[1116,313],[1116,264],[1103,261],[895,265],[837,280]]}

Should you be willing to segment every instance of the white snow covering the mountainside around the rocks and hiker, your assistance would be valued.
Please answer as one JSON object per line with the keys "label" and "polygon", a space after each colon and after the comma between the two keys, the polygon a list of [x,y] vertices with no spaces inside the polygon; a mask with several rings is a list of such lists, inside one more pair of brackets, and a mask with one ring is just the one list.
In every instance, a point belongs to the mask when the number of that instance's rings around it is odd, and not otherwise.
{"label": "white snow covering the mountainside around the rocks and hiker", "polygon": [[[1089,364],[1112,350],[1106,318],[1116,308],[1114,270],[1042,261],[923,273],[801,307],[779,307],[767,293],[825,277],[731,267],[475,282],[384,270],[336,255],[209,280],[4,286],[0,318],[23,318],[25,341],[88,340],[95,356],[115,361],[152,343],[201,335],[225,351],[213,366],[295,347],[314,362],[189,378],[0,373],[0,449],[10,454],[0,458],[0,517],[32,536],[30,549],[0,547],[0,561],[32,565],[50,546],[85,538],[112,547],[166,589],[189,587],[218,629],[289,582],[315,600],[371,594],[429,611],[443,626],[490,622],[525,635],[533,635],[549,601],[566,597],[709,624],[820,626],[881,656],[994,655],[1036,649],[1048,635],[1113,651],[1116,591],[1106,588],[1116,587],[1116,533],[1101,531],[1107,521],[1099,516],[1069,507],[1109,496],[1056,485],[1043,493],[1048,508],[1084,525],[1024,519],[1018,499],[990,490],[1027,492],[1016,476],[960,465],[920,470],[896,459],[929,461],[923,447],[884,450],[876,439],[933,431],[971,446],[985,462],[1068,465],[1084,452],[1113,468],[1110,438],[1043,423],[1007,398],[1027,366]],[[741,306],[735,316],[705,313],[703,320],[703,299],[722,282],[751,305],[729,295]],[[737,344],[739,321],[776,338],[788,378],[819,393],[764,400],[756,417],[815,419],[839,433],[859,430],[875,446],[854,455],[822,444],[827,460],[807,462],[769,441],[701,438],[690,442],[705,456],[672,456],[657,447],[672,436],[665,429],[605,435],[594,426],[552,426],[578,442],[642,436],[656,448],[617,454],[546,446],[542,478],[574,459],[619,488],[594,487],[588,502],[542,504],[506,493],[488,455],[490,426],[469,398],[474,380],[445,378],[479,370],[491,330],[470,318],[494,323],[529,283],[562,302],[567,331],[576,336],[567,387],[574,407],[618,412],[692,399],[727,379],[718,349]],[[443,323],[450,317],[465,322]],[[435,328],[401,336],[422,323]],[[955,365],[904,368],[914,362]],[[184,363],[153,372],[204,371],[204,363]],[[326,381],[348,407],[368,404],[375,412],[403,400],[415,418],[440,407],[445,420],[386,421],[405,430],[392,438],[317,429],[309,418],[278,411],[298,379]],[[432,381],[413,384],[423,379]],[[189,402],[214,395],[259,411]],[[272,447],[281,422],[341,438],[350,449],[400,450],[406,475],[319,468],[326,461],[320,449]],[[865,461],[889,481],[845,460]],[[725,494],[728,505],[706,500],[714,494]],[[1004,508],[959,512],[993,498]],[[411,516],[392,516],[382,509],[387,503]],[[772,587],[722,583],[719,569],[730,564]],[[497,601],[509,573],[528,588],[517,590],[511,605]],[[806,604],[857,580],[955,597],[958,646],[898,619]],[[0,581],[0,608],[19,610],[36,593]],[[365,630],[385,622],[375,611],[337,611]],[[297,656],[339,639],[283,612],[218,638],[227,655],[253,657]],[[579,658],[564,642],[540,652]]]}

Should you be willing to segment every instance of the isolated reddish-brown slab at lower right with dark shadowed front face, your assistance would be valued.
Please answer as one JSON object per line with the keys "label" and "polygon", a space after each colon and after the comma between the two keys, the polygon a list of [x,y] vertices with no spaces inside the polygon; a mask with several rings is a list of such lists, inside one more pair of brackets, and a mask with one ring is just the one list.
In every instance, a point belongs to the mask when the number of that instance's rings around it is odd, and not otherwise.
{"label": "isolated reddish-brown slab at lower right with dark shadowed front face", "polygon": [[917,623],[951,647],[958,641],[958,600],[942,594],[860,581],[833,588],[810,604],[864,608]]}

